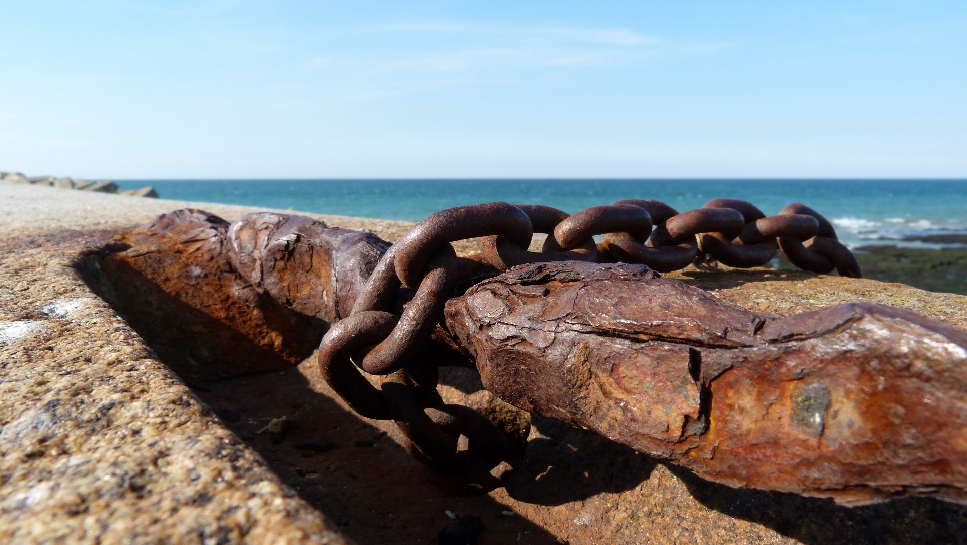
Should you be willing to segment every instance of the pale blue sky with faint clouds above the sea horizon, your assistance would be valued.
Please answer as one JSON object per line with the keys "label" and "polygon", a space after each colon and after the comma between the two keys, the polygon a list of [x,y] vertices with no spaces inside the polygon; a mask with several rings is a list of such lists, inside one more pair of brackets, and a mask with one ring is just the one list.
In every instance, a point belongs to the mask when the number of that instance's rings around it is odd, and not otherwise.
{"label": "pale blue sky with faint clouds above the sea horizon", "polygon": [[0,0],[0,170],[965,177],[964,2]]}

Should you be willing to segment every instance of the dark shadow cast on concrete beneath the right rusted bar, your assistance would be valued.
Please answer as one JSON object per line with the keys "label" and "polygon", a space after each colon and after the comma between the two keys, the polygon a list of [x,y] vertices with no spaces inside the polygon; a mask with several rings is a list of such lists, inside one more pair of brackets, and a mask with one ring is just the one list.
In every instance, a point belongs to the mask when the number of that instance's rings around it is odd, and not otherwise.
{"label": "dark shadow cast on concrete beneath the right rusted bar", "polygon": [[[908,498],[862,507],[796,494],[731,488],[563,422],[534,416],[540,434],[507,486],[515,500],[557,505],[632,490],[660,464],[697,502],[811,545],[967,543],[967,506]],[[633,500],[632,500],[633,502]]]}

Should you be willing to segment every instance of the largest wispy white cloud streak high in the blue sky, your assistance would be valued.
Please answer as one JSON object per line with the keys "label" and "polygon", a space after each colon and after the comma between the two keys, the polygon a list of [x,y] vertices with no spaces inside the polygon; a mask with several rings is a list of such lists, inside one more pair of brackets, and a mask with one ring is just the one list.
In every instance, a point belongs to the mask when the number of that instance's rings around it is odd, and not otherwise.
{"label": "largest wispy white cloud streak high in the blue sky", "polygon": [[[330,53],[305,69],[366,88],[370,98],[455,85],[512,82],[542,70],[630,67],[661,57],[705,54],[728,43],[686,43],[630,28],[509,25],[490,21],[407,21],[325,33],[329,43],[366,39],[404,45],[365,56]],[[386,35],[374,39],[373,35]],[[413,40],[413,38],[417,40]],[[333,47],[338,50],[338,47]],[[354,93],[359,96],[358,93]]]}

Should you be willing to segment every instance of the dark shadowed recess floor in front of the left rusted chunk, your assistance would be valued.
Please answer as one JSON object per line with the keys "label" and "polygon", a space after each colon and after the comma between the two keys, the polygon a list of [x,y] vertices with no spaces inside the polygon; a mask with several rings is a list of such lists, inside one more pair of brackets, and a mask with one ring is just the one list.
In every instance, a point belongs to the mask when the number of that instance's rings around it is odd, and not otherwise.
{"label": "dark shadowed recess floor in front of the left rusted chunk", "polygon": [[[363,544],[430,543],[458,519],[479,517],[478,544],[558,543],[505,505],[470,495],[458,482],[431,472],[393,437],[392,422],[367,422],[345,409],[321,383],[315,360],[284,371],[208,383],[195,390],[226,425],[258,451],[300,496]],[[283,433],[259,433],[288,416]],[[307,448],[314,445],[314,450]],[[302,447],[300,447],[302,446]]]}

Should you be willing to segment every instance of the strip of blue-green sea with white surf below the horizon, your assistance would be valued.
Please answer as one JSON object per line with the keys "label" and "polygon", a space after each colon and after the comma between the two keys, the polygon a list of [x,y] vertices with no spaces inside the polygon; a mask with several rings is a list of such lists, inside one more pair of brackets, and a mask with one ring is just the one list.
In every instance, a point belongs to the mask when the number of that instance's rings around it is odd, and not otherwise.
{"label": "strip of blue-green sea with white surf below the horizon", "polygon": [[[655,199],[679,211],[716,198],[744,199],[767,215],[804,203],[850,247],[941,248],[967,243],[967,180],[122,180],[162,198],[320,214],[417,221],[459,205],[536,203],[574,213],[621,199]],[[938,242],[942,241],[942,242]]]}

